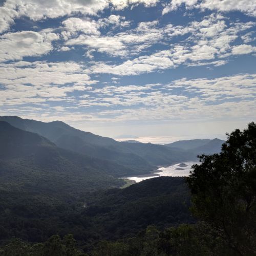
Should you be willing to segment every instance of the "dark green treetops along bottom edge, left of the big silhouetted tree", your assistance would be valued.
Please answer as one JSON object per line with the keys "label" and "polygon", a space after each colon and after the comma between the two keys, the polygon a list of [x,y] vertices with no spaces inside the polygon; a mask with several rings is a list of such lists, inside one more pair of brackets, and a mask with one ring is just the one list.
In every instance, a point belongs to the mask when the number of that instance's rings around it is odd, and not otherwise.
{"label": "dark green treetops along bottom edge, left of the big silhouetted tree", "polygon": [[209,236],[208,228],[204,223],[181,224],[162,231],[155,226],[148,226],[130,239],[116,242],[100,241],[90,254],[93,256],[233,256],[222,239]]}

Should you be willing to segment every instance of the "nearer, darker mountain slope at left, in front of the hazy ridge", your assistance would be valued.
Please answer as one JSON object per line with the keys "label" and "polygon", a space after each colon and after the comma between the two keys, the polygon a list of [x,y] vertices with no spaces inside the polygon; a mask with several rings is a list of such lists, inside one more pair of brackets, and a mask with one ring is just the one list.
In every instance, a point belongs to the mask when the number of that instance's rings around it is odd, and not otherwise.
{"label": "nearer, darker mountain slope at left, in front of the hazy ridge", "polygon": [[133,170],[58,148],[38,134],[0,121],[0,187],[33,193],[76,194],[123,182],[114,176]]}

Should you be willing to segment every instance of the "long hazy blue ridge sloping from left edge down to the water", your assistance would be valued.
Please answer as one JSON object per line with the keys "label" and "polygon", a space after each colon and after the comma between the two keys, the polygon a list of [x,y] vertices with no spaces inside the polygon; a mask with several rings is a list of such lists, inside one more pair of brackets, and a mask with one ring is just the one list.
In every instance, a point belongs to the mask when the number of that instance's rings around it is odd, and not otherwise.
{"label": "long hazy blue ridge sloping from left edge down to the water", "polygon": [[181,149],[151,143],[118,142],[74,129],[60,121],[45,123],[13,116],[0,117],[0,120],[9,122],[19,129],[44,136],[61,148],[116,162],[133,168],[138,174],[153,170],[157,165],[195,159],[195,154]]}

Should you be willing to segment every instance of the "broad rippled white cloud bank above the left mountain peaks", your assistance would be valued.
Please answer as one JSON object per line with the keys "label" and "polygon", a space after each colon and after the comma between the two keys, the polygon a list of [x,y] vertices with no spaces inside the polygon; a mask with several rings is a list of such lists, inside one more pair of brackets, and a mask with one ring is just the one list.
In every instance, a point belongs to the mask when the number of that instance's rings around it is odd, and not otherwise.
{"label": "broad rippled white cloud bank above the left mountain peaks", "polygon": [[27,62],[0,64],[1,105],[72,101],[67,94],[90,91],[96,80],[75,62]]}

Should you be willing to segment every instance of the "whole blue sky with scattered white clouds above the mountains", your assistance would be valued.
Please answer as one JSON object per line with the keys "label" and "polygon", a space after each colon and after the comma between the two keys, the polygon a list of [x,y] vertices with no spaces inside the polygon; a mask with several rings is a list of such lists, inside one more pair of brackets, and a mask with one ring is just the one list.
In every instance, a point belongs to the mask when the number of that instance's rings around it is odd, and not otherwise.
{"label": "whole blue sky with scattered white clouds above the mountains", "polygon": [[256,0],[0,0],[0,115],[118,140],[256,117]]}

